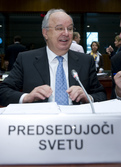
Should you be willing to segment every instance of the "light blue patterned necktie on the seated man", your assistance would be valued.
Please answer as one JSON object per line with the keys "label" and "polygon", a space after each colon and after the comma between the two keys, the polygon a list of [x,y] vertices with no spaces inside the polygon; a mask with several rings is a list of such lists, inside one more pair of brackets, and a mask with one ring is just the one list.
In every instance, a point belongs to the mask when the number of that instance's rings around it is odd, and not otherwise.
{"label": "light blue patterned necktie on the seated man", "polygon": [[68,105],[68,94],[66,76],[63,69],[63,57],[56,57],[59,61],[57,71],[56,71],[56,81],[55,81],[55,101],[58,105]]}

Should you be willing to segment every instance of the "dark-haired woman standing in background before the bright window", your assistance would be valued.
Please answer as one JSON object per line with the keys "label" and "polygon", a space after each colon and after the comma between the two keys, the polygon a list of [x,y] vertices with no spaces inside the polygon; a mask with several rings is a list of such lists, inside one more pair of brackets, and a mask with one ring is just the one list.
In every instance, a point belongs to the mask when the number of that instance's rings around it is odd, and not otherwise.
{"label": "dark-haired woman standing in background before the bright window", "polygon": [[97,41],[93,41],[91,43],[91,52],[89,53],[91,56],[93,56],[96,66],[96,72],[102,73],[104,71],[103,69],[103,57],[102,54],[98,51],[100,44]]}

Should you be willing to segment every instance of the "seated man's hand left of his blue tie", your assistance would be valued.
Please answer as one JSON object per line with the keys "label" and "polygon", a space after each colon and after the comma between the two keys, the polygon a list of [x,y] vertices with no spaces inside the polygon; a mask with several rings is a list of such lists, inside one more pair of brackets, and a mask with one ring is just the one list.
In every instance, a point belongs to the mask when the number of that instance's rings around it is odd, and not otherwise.
{"label": "seated man's hand left of his blue tie", "polygon": [[52,89],[50,86],[48,85],[38,86],[24,97],[23,103],[32,103],[38,100],[45,100],[46,98],[49,98],[51,94],[52,94]]}

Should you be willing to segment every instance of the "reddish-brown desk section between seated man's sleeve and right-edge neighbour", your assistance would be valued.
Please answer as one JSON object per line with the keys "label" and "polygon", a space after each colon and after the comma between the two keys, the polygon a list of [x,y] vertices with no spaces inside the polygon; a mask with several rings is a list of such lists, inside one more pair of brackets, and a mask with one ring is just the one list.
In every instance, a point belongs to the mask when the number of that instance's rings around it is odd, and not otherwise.
{"label": "reddish-brown desk section between seated man's sleeve and right-edge neighbour", "polygon": [[111,97],[111,91],[112,91],[112,78],[110,76],[99,76],[98,80],[104,86],[107,93],[107,98],[109,100]]}

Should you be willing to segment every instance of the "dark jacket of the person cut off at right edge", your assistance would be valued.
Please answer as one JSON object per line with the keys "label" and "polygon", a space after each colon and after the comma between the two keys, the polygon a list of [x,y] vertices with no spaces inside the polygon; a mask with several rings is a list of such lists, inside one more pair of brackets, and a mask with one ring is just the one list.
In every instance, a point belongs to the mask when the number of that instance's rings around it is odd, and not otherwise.
{"label": "dark jacket of the person cut off at right edge", "polygon": [[111,98],[116,98],[115,95],[115,82],[114,82],[114,73],[121,71],[121,51],[118,52],[115,56],[111,58],[111,71],[112,71],[112,93]]}

